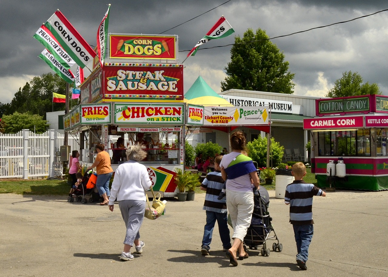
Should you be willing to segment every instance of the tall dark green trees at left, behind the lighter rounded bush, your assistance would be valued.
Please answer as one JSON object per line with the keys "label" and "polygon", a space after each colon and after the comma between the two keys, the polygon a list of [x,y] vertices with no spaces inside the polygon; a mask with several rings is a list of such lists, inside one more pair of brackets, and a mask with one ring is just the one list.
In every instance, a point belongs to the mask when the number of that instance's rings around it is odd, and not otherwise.
{"label": "tall dark green trees at left, behind the lighter rounded bush", "polygon": [[[31,112],[46,118],[47,112],[65,109],[65,103],[53,103],[52,93],[64,95],[66,82],[57,74],[47,73],[26,83],[23,88],[15,93],[14,98],[8,106],[4,107],[3,114],[11,115],[14,112],[21,114]],[[70,100],[70,106],[77,105],[78,100]],[[0,107],[0,112],[1,112]]]}

